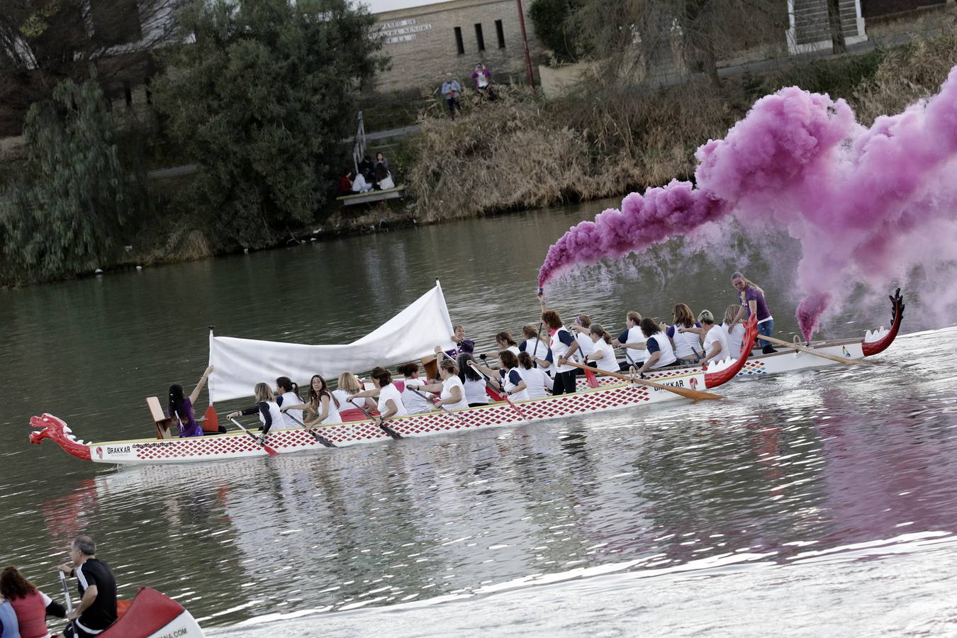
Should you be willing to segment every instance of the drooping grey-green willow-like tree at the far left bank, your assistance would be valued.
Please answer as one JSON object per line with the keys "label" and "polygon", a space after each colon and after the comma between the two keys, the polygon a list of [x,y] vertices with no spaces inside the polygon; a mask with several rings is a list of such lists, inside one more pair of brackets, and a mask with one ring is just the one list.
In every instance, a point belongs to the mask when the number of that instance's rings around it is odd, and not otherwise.
{"label": "drooping grey-green willow-like tree at the far left bank", "polygon": [[56,85],[27,113],[28,160],[0,196],[3,252],[18,279],[90,272],[115,249],[127,206],[116,125],[97,78]]}

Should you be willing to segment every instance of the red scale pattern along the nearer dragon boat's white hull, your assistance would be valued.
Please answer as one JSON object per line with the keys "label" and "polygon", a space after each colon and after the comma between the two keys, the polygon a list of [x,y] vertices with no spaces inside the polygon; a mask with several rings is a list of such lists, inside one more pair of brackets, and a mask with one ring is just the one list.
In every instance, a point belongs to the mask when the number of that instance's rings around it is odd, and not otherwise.
{"label": "red scale pattern along the nearer dragon boat's white hull", "polygon": [[[507,403],[496,403],[488,407],[453,412],[416,414],[387,423],[402,436],[425,436],[436,432],[516,425],[524,423],[526,418],[529,421],[541,421],[617,407],[636,407],[669,398],[674,398],[674,395],[668,392],[653,394],[647,387],[623,384],[516,404],[524,417],[515,407]],[[389,434],[369,421],[325,426],[315,431],[337,446],[389,439]],[[266,445],[278,452],[316,450],[323,447],[304,429],[274,429],[266,438]],[[146,462],[182,462],[265,454],[265,451],[249,435],[230,433],[139,444],[136,453],[138,458]]]}

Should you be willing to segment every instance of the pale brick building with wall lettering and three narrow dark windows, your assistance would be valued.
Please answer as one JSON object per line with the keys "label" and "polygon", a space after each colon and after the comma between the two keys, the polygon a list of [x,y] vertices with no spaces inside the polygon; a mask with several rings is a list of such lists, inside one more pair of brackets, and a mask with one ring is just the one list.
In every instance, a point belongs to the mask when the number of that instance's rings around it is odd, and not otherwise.
{"label": "pale brick building with wall lettering and three narrow dark windows", "polygon": [[[516,0],[450,0],[434,5],[376,13],[385,36],[383,53],[391,69],[376,78],[379,92],[403,91],[442,83],[447,73],[463,86],[472,84],[472,71],[482,62],[495,81],[526,77]],[[525,33],[537,65],[542,47],[535,37],[524,0]],[[537,78],[536,78],[537,82]]]}

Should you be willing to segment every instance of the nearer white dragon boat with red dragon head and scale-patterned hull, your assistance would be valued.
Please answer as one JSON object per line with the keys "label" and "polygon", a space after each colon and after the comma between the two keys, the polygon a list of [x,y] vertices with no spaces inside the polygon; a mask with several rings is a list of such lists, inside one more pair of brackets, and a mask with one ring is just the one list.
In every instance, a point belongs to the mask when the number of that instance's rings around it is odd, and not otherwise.
{"label": "nearer white dragon boat with red dragon head and scale-patterned hull", "polygon": [[[757,326],[752,320],[746,326],[744,343],[747,350],[750,350],[756,337]],[[726,359],[711,365],[706,371],[676,370],[674,374],[658,381],[662,385],[674,385],[693,390],[718,387],[741,372],[745,363],[746,360]],[[74,436],[72,429],[62,419],[52,414],[43,414],[31,418],[31,425],[37,431],[31,432],[30,440],[39,444],[44,439],[51,439],[64,451],[94,463],[118,465],[192,463],[276,453],[317,451],[362,443],[385,442],[393,438],[416,438],[457,431],[517,426],[608,410],[650,406],[680,398],[679,394],[667,389],[619,381],[612,385],[599,385],[581,392],[543,399],[493,403],[482,407],[439,410],[392,418],[387,422],[388,429],[381,429],[370,420],[322,426],[311,430],[304,427],[271,429],[266,437],[265,446],[260,445],[253,435],[245,431],[191,438],[84,443]]]}

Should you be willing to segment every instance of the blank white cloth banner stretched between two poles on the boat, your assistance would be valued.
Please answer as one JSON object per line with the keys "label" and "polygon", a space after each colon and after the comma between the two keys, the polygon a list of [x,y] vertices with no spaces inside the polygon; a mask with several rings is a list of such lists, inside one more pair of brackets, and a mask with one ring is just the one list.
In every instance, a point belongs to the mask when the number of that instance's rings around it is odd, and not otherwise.
{"label": "blank white cloth banner stretched between two poles on the boat", "polygon": [[[332,382],[343,372],[365,372],[376,365],[397,365],[421,359],[440,345],[449,350],[452,319],[435,287],[412,305],[358,341],[345,345],[305,345],[213,337],[210,333],[210,401],[253,396],[258,383],[276,390],[278,377],[289,377],[305,391],[314,374]],[[304,396],[304,395],[303,395]]]}

